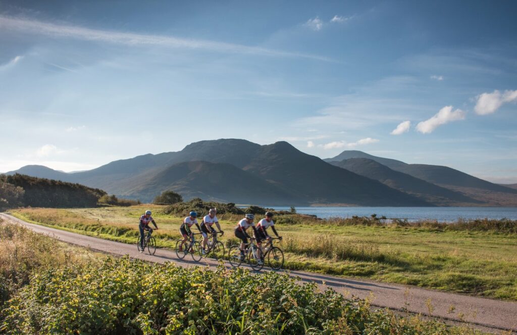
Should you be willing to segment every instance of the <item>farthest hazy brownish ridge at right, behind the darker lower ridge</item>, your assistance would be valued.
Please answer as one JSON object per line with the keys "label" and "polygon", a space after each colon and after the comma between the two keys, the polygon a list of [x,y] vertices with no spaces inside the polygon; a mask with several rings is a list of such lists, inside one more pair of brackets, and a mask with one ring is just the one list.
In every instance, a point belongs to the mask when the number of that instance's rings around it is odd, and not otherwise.
{"label": "farthest hazy brownish ridge at right, behind the darker lower ridge", "polygon": [[491,206],[517,206],[517,190],[470,176],[467,173],[447,166],[406,164],[394,159],[368,155],[361,151],[344,151],[336,157],[325,159],[325,161],[333,162],[341,157],[370,158],[393,170],[409,174],[452,191],[461,192],[468,197],[486,202]]}

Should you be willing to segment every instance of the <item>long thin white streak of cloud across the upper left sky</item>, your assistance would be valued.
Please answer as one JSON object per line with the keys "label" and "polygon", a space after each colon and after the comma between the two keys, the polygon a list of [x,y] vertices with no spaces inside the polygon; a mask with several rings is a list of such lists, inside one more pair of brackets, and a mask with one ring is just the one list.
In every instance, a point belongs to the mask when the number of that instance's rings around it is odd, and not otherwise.
{"label": "long thin white streak of cloud across the upper left sky", "polygon": [[125,33],[108,30],[90,29],[74,25],[54,24],[25,18],[0,16],[0,28],[28,34],[43,35],[53,38],[72,38],[86,41],[117,43],[128,46],[163,46],[170,48],[202,49],[217,52],[256,54],[265,56],[304,57],[321,61],[330,61],[327,57],[250,47],[234,43],[224,43],[201,39],[187,39],[163,35]]}

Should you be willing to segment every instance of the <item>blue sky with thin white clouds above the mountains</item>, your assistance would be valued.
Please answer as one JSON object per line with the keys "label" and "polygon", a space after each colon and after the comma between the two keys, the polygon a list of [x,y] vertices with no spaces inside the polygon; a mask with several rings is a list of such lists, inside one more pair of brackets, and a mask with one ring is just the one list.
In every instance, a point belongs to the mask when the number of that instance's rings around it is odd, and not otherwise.
{"label": "blue sky with thin white clouds above the mountains", "polygon": [[242,138],[517,183],[515,10],[0,0],[0,171]]}

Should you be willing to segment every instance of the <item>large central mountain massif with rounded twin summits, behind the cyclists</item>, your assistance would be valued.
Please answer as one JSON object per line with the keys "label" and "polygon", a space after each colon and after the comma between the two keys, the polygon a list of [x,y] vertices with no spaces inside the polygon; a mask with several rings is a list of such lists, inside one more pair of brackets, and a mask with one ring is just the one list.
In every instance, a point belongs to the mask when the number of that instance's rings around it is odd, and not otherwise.
{"label": "large central mountain massif with rounded twin summits, behind the cyclists", "polygon": [[[187,162],[196,163],[180,164]],[[200,141],[178,152],[136,156],[60,176],[143,201],[172,188],[183,192],[186,199],[201,196],[266,205],[280,201],[296,206],[311,203],[432,206],[302,153],[287,142],[259,145],[239,139]]]}

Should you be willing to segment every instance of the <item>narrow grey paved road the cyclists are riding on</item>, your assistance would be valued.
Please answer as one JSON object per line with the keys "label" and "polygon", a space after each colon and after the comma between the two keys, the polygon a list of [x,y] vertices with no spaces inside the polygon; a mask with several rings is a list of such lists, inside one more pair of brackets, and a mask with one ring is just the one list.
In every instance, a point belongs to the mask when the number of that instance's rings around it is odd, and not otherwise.
{"label": "narrow grey paved road the cyclists are riding on", "polygon": [[[93,250],[114,255],[129,255],[154,263],[171,261],[179,266],[190,267],[205,265],[216,267],[214,259],[202,259],[195,263],[190,256],[179,260],[174,251],[158,249],[156,255],[139,253],[136,245],[113,242],[95,237],[74,234],[73,232],[30,224],[11,215],[0,213],[0,217],[7,222],[18,223],[41,234],[55,239],[89,247]],[[230,266],[227,264],[227,266]],[[355,295],[360,298],[370,298],[372,305],[387,307],[394,310],[407,310],[413,313],[438,316],[450,321],[465,321],[476,326],[491,329],[517,331],[517,302],[484,299],[466,295],[438,292],[414,286],[393,285],[375,281],[339,278],[336,276],[316,274],[302,271],[286,272],[300,281],[315,282],[321,289],[331,287],[345,296]],[[451,306],[454,310],[451,312]],[[462,320],[463,319],[463,320]]]}

